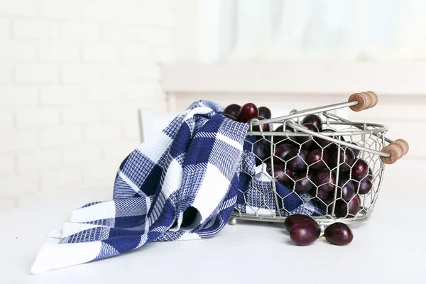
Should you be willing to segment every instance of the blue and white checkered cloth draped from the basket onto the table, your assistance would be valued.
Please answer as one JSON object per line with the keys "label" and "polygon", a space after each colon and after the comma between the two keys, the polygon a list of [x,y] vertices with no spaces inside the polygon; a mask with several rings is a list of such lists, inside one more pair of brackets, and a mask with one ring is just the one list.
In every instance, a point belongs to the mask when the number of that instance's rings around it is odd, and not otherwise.
{"label": "blue and white checkered cloth draped from the basket onto the table", "polygon": [[[259,180],[264,192],[250,190],[256,165],[245,142],[249,124],[226,119],[223,110],[211,101],[195,102],[157,138],[130,153],[119,166],[113,200],[73,211],[60,243],[44,244],[31,272],[117,256],[151,241],[214,236],[237,200],[241,207],[249,200],[251,210],[261,207],[265,198],[259,194],[271,195],[268,206],[274,207],[271,182]],[[291,195],[286,187],[277,188]],[[295,194],[284,202],[292,211],[302,205]]]}

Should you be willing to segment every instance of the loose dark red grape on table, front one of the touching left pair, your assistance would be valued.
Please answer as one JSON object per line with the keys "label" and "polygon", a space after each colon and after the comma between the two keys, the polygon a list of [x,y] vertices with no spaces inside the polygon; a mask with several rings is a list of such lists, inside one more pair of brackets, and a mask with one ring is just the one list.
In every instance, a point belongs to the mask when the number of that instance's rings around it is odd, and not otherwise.
{"label": "loose dark red grape on table, front one of the touching left pair", "polygon": [[321,228],[314,220],[298,222],[290,229],[290,239],[300,246],[307,246],[317,241]]}

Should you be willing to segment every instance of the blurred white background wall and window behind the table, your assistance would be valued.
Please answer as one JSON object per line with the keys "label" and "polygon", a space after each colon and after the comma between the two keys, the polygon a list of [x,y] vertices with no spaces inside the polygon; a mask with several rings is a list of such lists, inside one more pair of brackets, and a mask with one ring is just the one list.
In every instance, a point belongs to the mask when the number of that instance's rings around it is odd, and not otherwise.
{"label": "blurred white background wall and window behind the table", "polygon": [[94,186],[112,194],[157,116],[197,99],[290,110],[368,90],[375,109],[340,114],[406,139],[382,192],[420,192],[408,176],[426,169],[425,10],[422,0],[2,0],[0,212]]}

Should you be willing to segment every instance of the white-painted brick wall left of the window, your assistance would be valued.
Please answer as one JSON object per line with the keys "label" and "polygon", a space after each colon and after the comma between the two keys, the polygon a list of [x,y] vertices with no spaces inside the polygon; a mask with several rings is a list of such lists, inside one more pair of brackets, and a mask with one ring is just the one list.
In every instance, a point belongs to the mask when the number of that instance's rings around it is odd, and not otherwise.
{"label": "white-painted brick wall left of the window", "polygon": [[0,212],[111,188],[138,146],[137,110],[165,110],[175,1],[0,1]]}

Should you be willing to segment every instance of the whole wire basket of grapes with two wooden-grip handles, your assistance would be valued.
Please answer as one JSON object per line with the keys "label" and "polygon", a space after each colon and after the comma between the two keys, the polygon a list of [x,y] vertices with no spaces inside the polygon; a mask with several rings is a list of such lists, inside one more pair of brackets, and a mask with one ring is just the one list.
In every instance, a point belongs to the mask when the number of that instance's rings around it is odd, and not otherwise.
{"label": "whole wire basket of grapes with two wooden-grip handles", "polygon": [[[376,104],[373,92],[356,93],[341,104],[252,119],[240,176],[246,187],[239,189],[230,224],[237,219],[284,222],[293,214],[310,215],[323,226],[371,217],[385,164],[405,155],[408,143],[386,138],[387,126],[352,122],[328,111],[361,111]],[[304,124],[312,115],[321,119],[317,129]]]}

